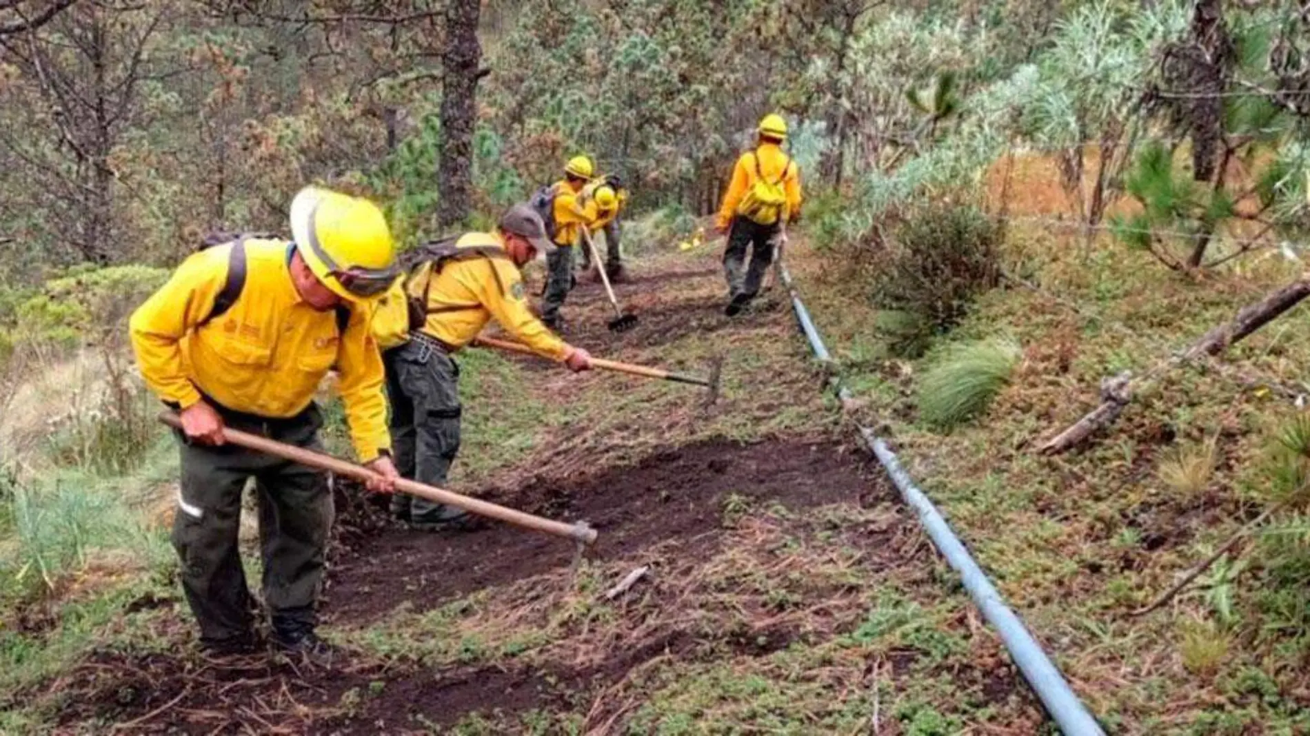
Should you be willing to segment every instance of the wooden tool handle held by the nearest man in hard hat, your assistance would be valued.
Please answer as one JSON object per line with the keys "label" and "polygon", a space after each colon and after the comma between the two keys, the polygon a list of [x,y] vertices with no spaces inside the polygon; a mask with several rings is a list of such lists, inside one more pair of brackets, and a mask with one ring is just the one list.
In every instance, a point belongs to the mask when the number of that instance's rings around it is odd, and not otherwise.
{"label": "wooden tool handle held by the nearest man in hard hat", "polygon": [[[173,427],[174,430],[182,428],[182,419],[172,411],[160,414],[160,422]],[[363,465],[356,465],[354,462],[341,460],[339,457],[270,440],[269,437],[261,437],[259,435],[252,435],[250,432],[242,432],[241,430],[224,427],[223,436],[227,441],[234,445],[241,445],[274,457],[308,465],[309,468],[329,470],[338,475],[354,478],[360,482],[367,483],[368,481],[377,478],[377,473],[373,473]],[[533,516],[532,513],[524,513],[521,511],[515,511],[490,502],[462,496],[444,488],[438,488],[436,486],[428,486],[406,478],[397,481],[396,487],[406,494],[419,496],[430,502],[462,508],[469,513],[477,513],[478,516],[486,516],[487,519],[495,519],[498,521],[523,526],[524,529],[534,529],[557,537],[569,537],[570,540],[578,540],[579,542],[588,545],[596,541],[596,530],[586,524],[565,524],[562,521]]]}

